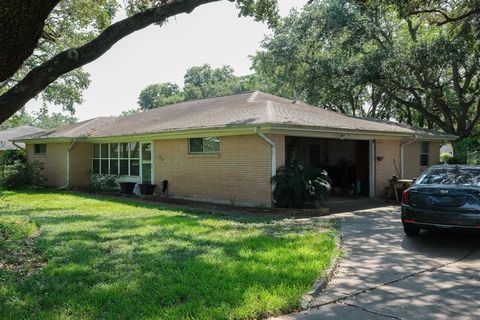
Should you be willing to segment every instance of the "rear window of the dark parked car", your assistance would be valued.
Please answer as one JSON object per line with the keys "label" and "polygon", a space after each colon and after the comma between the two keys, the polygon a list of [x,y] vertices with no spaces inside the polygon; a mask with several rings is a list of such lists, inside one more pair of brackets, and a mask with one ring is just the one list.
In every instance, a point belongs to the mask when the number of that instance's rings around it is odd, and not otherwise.
{"label": "rear window of the dark parked car", "polygon": [[416,184],[480,186],[480,168],[433,168],[425,172]]}

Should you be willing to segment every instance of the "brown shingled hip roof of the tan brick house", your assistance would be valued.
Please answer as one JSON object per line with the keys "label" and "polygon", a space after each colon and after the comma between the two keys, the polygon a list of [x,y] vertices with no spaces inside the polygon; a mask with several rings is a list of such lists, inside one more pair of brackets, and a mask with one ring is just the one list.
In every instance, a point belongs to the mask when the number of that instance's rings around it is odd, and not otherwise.
{"label": "brown shingled hip roof of the tan brick house", "polygon": [[259,91],[186,101],[123,117],[99,117],[25,138],[94,138],[262,125],[454,138],[394,122],[351,117]]}

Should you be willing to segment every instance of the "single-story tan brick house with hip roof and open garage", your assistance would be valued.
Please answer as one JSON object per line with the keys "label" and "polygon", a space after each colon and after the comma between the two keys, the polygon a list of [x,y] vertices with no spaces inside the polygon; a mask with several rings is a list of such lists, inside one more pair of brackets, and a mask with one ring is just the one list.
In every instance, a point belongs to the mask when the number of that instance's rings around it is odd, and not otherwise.
{"label": "single-story tan brick house with hip roof and open garage", "polygon": [[[294,159],[326,169],[336,190],[382,196],[393,175],[440,162],[442,132],[351,117],[263,92],[99,117],[19,139],[52,186],[84,187],[91,173],[169,181],[172,197],[271,206],[271,177]],[[158,188],[160,189],[160,188]]]}

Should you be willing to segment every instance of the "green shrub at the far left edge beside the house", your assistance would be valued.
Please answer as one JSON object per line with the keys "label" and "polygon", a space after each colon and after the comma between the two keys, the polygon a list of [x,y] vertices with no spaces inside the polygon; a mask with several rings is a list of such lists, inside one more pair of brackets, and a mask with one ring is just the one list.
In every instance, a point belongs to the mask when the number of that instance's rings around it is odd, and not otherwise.
{"label": "green shrub at the far left edge beside the house", "polygon": [[41,174],[43,164],[16,160],[11,164],[3,165],[0,171],[0,187],[5,189],[18,189],[25,187],[41,186],[44,178]]}

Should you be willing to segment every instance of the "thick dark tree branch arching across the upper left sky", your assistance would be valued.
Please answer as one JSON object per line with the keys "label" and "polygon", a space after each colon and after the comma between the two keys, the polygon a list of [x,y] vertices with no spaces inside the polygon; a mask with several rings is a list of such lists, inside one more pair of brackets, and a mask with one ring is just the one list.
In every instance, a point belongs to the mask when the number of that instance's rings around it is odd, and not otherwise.
{"label": "thick dark tree branch arching across the upper left sky", "polygon": [[7,120],[61,75],[81,67],[108,51],[129,34],[167,18],[190,13],[196,7],[220,0],[177,0],[144,10],[112,24],[85,45],[61,52],[32,69],[22,81],[0,96],[0,123]]}

